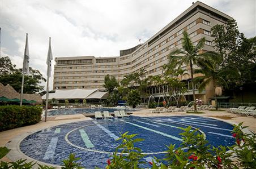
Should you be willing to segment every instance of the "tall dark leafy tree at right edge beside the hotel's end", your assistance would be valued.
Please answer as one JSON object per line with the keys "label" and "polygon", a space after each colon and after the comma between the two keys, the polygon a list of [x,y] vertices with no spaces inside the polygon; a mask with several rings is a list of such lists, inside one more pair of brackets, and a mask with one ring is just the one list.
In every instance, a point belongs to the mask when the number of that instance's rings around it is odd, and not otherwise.
{"label": "tall dark leafy tree at right edge beside the hotel's end", "polygon": [[229,20],[227,25],[212,27],[215,49],[223,56],[221,66],[236,68],[240,76],[224,75],[229,86],[233,89],[244,83],[255,81],[254,68],[256,66],[256,37],[247,39],[240,33],[235,20]]}

